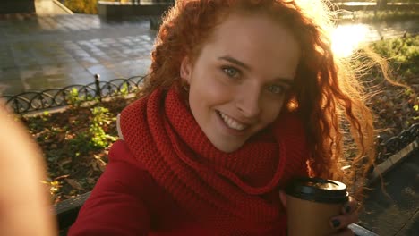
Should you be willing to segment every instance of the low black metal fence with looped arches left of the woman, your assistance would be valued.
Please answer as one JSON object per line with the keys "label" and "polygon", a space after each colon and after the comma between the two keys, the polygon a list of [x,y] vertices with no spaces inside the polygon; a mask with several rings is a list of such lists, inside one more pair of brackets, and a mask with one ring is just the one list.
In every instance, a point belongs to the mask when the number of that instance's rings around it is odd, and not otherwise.
{"label": "low black metal fence with looped arches left of the woman", "polygon": [[145,76],[135,76],[127,79],[95,80],[87,85],[70,85],[62,89],[46,89],[43,91],[28,91],[13,96],[2,96],[5,105],[15,114],[27,114],[47,109],[59,108],[77,102],[88,102],[95,99],[101,101],[106,97],[116,97],[134,93]]}

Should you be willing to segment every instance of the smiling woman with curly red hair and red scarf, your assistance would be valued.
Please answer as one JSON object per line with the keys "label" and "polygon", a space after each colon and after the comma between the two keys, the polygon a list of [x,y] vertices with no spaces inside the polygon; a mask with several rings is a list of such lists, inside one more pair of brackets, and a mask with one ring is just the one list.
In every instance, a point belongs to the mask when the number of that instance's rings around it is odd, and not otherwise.
{"label": "smiling woman with curly red hair and red scarf", "polygon": [[[177,1],[70,235],[286,235],[290,179],[350,184],[341,121],[360,166],[373,156],[372,116],[313,2]],[[351,200],[330,227],[353,235],[356,221]]]}

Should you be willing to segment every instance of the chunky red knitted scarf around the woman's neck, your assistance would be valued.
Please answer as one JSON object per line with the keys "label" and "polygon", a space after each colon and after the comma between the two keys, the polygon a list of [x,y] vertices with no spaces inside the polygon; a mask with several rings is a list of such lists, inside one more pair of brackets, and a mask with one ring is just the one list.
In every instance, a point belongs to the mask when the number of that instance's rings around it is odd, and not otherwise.
{"label": "chunky red knitted scarf around the woman's neck", "polygon": [[158,89],[124,109],[121,131],[141,166],[180,206],[217,225],[240,222],[230,235],[284,226],[279,200],[267,196],[306,174],[304,131],[292,115],[227,154],[209,142],[175,89]]}

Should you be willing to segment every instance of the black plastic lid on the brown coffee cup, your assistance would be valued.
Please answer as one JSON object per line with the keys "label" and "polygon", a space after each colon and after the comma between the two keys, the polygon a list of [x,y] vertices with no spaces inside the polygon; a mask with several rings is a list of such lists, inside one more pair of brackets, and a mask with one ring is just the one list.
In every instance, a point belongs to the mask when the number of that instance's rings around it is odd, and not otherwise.
{"label": "black plastic lid on the brown coffee cup", "polygon": [[286,194],[304,200],[322,203],[345,203],[346,185],[321,178],[297,178],[286,186]]}

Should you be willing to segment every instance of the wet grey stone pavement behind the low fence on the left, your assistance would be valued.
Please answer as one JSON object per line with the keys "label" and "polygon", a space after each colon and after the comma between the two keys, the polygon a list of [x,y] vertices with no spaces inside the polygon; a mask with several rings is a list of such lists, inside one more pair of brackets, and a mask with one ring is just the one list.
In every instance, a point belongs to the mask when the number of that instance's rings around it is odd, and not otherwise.
{"label": "wet grey stone pavement behind the low fence on the left", "polygon": [[147,73],[155,32],[148,18],[101,21],[97,15],[0,19],[0,94],[63,88]]}

